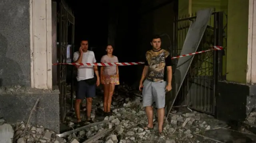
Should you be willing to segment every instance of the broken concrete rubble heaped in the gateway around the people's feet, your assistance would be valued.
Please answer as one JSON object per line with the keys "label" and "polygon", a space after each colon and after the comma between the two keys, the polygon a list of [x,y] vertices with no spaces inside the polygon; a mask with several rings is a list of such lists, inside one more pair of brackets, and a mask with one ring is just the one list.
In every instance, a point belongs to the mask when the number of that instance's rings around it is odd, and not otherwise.
{"label": "broken concrete rubble heaped in the gateway around the people's feet", "polygon": [[[96,92],[98,95],[103,94],[103,90]],[[85,103],[86,101],[84,101]],[[106,129],[113,129],[110,134],[98,138],[98,142],[105,143],[158,143],[158,123],[156,117],[156,109],[154,109],[154,129],[145,130],[143,127],[147,125],[146,112],[142,106],[142,96],[138,90],[129,88],[127,85],[117,86],[112,98],[112,115],[100,116],[98,109],[103,109],[103,99],[95,98],[93,100],[93,113],[96,114],[95,119],[98,121],[108,121],[103,125],[96,125],[78,131],[75,135],[64,137],[67,141],[76,138],[82,143],[84,139],[95,140],[95,135]],[[206,131],[219,127],[218,121],[212,116],[199,112],[191,112],[186,107],[184,110],[172,110],[172,114],[165,121],[163,132],[164,137],[160,138],[159,143],[196,143],[198,139],[194,136],[194,132]],[[84,115],[83,115],[84,114]],[[85,117],[85,112],[81,112],[81,117]],[[74,112],[68,119],[75,118]],[[69,125],[69,121],[67,121]],[[82,133],[81,133],[82,132]],[[98,136],[97,136],[98,137]]]}

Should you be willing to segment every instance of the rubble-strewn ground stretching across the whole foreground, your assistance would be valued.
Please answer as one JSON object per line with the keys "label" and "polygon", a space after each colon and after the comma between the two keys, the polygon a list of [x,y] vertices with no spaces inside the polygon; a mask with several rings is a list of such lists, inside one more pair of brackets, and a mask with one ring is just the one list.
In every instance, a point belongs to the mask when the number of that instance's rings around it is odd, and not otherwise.
{"label": "rubble-strewn ground stretching across the whole foreground", "polygon": [[[77,130],[75,113],[71,110],[66,116],[66,123],[61,126],[64,127],[62,132],[70,131],[64,133],[65,135],[56,135],[54,131],[44,129],[40,125],[28,125],[25,129],[26,124],[22,122],[13,125],[13,141],[17,143],[222,143],[224,141],[252,143],[248,142],[247,137],[255,137],[249,134],[241,136],[239,132],[221,128],[227,125],[212,116],[191,112],[187,108],[172,110],[164,123],[164,136],[158,137],[157,116],[154,116],[153,130],[142,128],[147,125],[147,118],[141,104],[141,95],[136,90],[127,86],[116,89],[112,102],[113,114],[110,117],[100,115],[99,109],[103,106],[102,91],[98,89],[97,95],[92,107],[92,118],[95,123]],[[85,103],[81,108],[82,120],[86,119]],[[71,106],[68,109],[71,109]],[[154,114],[156,115],[156,109]],[[4,120],[0,120],[0,130],[3,123]]]}

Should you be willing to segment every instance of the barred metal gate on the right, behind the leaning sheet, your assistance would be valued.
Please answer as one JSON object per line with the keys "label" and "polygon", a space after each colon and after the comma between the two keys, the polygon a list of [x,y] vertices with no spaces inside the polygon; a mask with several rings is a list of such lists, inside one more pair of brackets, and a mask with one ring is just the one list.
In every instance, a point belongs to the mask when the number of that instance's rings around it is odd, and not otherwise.
{"label": "barred metal gate on the right, behind the leaning sheet", "polygon": [[[180,55],[186,34],[196,16],[174,22],[174,56]],[[197,51],[207,50],[213,45],[222,46],[223,13],[214,12]],[[177,64],[178,59],[174,60]],[[176,65],[175,64],[175,65]],[[174,66],[174,69],[176,67]],[[189,105],[193,110],[215,114],[217,81],[222,75],[222,55],[218,51],[195,55],[178,94],[176,104]]]}

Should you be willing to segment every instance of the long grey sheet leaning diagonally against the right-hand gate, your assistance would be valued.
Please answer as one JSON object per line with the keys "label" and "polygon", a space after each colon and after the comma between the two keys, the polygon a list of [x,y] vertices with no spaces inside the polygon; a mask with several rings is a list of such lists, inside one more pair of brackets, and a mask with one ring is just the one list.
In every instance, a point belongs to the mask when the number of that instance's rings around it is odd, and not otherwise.
{"label": "long grey sheet leaning diagonally against the right-hand gate", "polygon": [[[187,53],[194,53],[198,49],[200,41],[204,35],[204,31],[206,30],[208,21],[210,20],[210,16],[212,14],[212,8],[208,8],[205,10],[200,10],[197,12],[196,21],[190,25],[188,29],[188,33],[186,35],[186,39],[184,41],[184,45],[182,47],[182,51],[180,55],[185,55]],[[188,69],[192,63],[194,55],[182,57],[178,60],[177,68],[174,73],[175,84],[176,84],[176,94],[172,96],[170,102],[172,102],[171,106],[169,107],[169,112],[172,109],[174,101],[180,91],[182,83],[185,79],[185,76],[188,72]]]}

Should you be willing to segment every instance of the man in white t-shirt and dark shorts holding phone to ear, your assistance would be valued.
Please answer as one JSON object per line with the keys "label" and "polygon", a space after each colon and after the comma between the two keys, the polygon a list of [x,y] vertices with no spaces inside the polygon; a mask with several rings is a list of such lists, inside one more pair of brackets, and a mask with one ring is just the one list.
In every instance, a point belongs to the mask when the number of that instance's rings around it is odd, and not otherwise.
{"label": "man in white t-shirt and dark shorts holding phone to ear", "polygon": [[[81,47],[79,52],[74,53],[74,63],[96,63],[96,59],[93,51],[88,50],[88,40],[81,41]],[[93,123],[91,119],[92,112],[92,98],[96,96],[96,86],[100,85],[100,76],[97,66],[78,66],[76,65],[77,72],[77,91],[76,91],[76,103],[75,111],[76,118],[79,125],[84,125],[80,118],[80,104],[86,97],[86,121]],[[94,78],[94,72],[97,79]]]}

